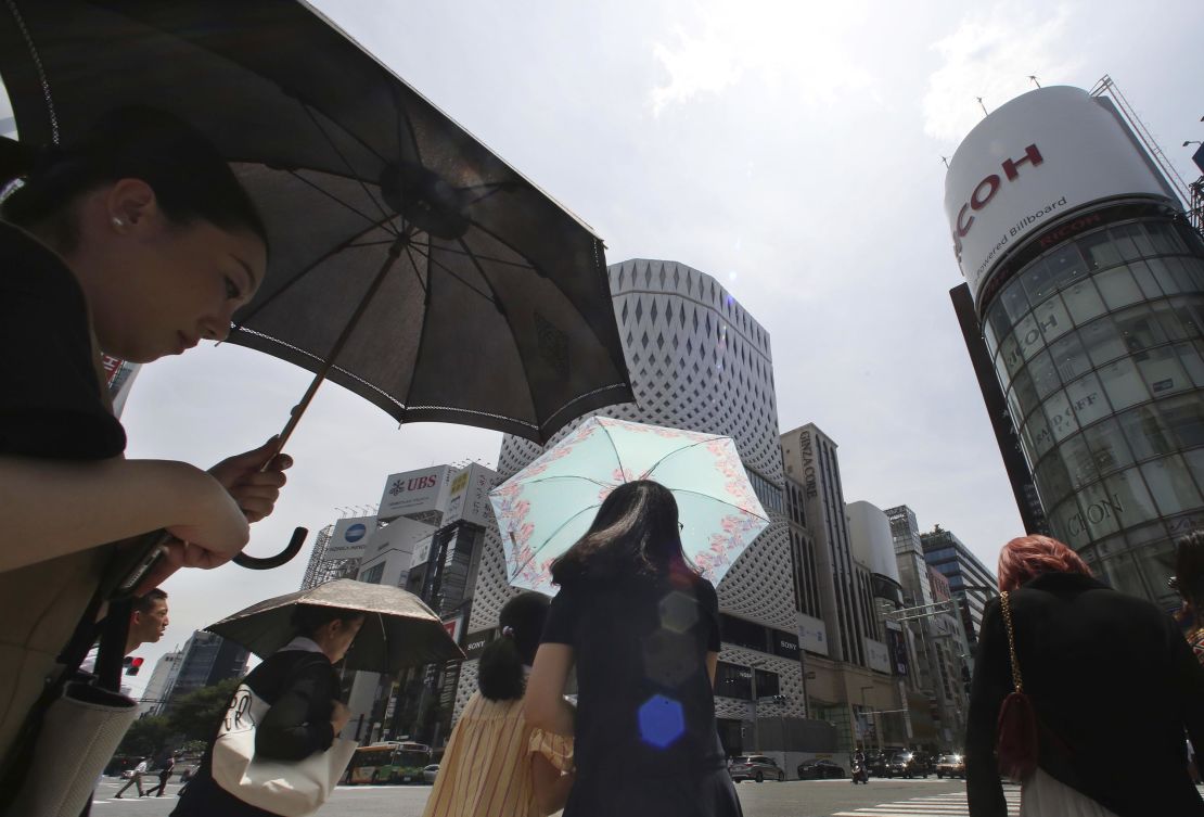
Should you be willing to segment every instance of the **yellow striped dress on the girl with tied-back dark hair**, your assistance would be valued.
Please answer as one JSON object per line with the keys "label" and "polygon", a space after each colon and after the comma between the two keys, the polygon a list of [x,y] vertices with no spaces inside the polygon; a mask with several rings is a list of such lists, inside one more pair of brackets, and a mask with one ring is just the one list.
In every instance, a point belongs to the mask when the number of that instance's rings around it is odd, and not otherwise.
{"label": "yellow striped dress on the girl with tied-back dark hair", "polygon": [[573,740],[532,729],[523,700],[468,699],[452,730],[423,817],[537,817],[531,756],[573,768]]}

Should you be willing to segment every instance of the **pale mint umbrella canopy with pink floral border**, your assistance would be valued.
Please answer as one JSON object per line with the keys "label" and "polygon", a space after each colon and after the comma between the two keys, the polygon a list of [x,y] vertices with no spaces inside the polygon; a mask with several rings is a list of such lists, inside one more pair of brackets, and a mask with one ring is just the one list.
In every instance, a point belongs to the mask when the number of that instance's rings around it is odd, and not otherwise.
{"label": "pale mint umbrella canopy with pink floral border", "polygon": [[636,480],[673,493],[685,554],[714,584],[769,524],[731,437],[591,417],[489,494],[510,584],[554,593],[551,562]]}

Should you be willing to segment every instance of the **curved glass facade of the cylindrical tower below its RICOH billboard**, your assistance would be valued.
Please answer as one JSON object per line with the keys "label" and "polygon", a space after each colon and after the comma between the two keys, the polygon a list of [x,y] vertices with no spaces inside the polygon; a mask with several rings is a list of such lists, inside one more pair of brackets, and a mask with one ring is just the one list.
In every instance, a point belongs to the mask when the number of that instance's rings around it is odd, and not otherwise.
{"label": "curved glass facade of the cylindrical tower below its RICOH billboard", "polygon": [[982,331],[1054,535],[1169,601],[1174,540],[1204,524],[1204,242],[1137,212],[1026,253]]}

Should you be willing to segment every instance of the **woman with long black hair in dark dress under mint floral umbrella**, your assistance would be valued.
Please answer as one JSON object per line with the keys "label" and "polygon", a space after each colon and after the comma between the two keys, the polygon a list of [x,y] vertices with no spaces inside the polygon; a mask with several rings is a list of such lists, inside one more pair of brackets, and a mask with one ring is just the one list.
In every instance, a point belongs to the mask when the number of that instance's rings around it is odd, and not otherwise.
{"label": "woman with long black hair in dark dress under mint floral umbrella", "polygon": [[576,733],[565,817],[740,815],[715,729],[719,600],[681,551],[673,494],[620,486],[551,575],[561,589],[526,700],[537,727]]}

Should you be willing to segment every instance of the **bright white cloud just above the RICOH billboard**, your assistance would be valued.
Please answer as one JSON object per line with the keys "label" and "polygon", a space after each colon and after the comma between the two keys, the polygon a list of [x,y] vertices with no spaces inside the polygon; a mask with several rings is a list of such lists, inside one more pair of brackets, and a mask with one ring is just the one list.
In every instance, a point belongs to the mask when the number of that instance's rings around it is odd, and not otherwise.
{"label": "bright white cloud just above the RICOH billboard", "polygon": [[1070,20],[1072,6],[1021,10],[1015,4],[970,12],[952,34],[933,43],[944,65],[928,78],[923,130],[958,142],[988,111],[1041,84],[1057,84],[1079,65]]}

